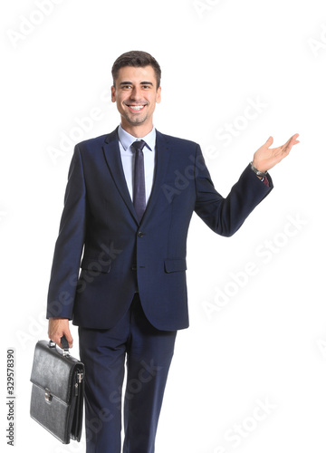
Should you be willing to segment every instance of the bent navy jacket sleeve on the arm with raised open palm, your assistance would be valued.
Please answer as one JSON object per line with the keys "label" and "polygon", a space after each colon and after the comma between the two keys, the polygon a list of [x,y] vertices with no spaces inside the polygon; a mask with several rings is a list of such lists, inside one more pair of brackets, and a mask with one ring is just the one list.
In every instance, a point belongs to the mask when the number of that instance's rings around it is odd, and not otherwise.
{"label": "bent navy jacket sleeve on the arm with raised open palm", "polygon": [[267,175],[269,187],[266,186],[256,177],[249,164],[231,188],[228,196],[223,198],[214,188],[199,145],[197,145],[195,172],[195,211],[207,226],[221,236],[234,235],[254,207],[273,188],[272,178]]}

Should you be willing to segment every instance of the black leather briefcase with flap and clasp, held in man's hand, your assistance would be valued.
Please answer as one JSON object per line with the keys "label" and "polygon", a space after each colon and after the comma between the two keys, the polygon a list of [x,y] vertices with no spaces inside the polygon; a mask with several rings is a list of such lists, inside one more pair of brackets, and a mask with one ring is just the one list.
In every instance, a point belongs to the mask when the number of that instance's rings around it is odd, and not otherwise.
{"label": "black leather briefcase with flap and clasp, held in man's hand", "polygon": [[81,440],[85,370],[82,361],[69,354],[68,342],[62,337],[63,349],[50,340],[36,343],[31,374],[30,414],[63,444]]}

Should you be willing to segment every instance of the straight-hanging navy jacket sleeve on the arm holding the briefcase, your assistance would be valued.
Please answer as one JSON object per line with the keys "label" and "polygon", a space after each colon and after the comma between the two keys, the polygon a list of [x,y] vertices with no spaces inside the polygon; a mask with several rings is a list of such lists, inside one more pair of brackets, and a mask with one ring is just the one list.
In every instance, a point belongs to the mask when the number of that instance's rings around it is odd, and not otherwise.
{"label": "straight-hanging navy jacket sleeve on the arm holding the briefcase", "polygon": [[86,188],[82,156],[75,146],[64,195],[59,236],[55,243],[46,317],[72,319],[73,301],[85,239]]}

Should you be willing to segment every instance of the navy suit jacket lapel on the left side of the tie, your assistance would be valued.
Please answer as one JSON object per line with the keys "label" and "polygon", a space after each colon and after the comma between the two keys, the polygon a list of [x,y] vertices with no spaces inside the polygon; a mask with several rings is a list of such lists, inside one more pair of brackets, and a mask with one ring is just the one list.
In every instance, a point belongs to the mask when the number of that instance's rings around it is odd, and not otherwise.
{"label": "navy suit jacket lapel on the left side of the tie", "polygon": [[118,128],[113,130],[113,132],[111,132],[104,140],[103,151],[110,170],[110,175],[120,192],[120,196],[129,208],[131,216],[134,217],[135,221],[138,223],[135,208],[130,198],[129,189],[122,168]]}

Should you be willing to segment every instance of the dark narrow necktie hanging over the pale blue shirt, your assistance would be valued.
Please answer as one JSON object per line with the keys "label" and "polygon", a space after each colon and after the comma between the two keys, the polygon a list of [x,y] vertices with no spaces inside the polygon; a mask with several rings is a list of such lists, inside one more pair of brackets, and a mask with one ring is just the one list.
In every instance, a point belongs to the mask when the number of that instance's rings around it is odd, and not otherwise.
{"label": "dark narrow necktie hanging over the pale blue shirt", "polygon": [[138,140],[132,143],[132,147],[136,152],[133,183],[133,204],[137,217],[139,219],[139,223],[146,209],[144,153],[142,151],[144,146],[144,140]]}

